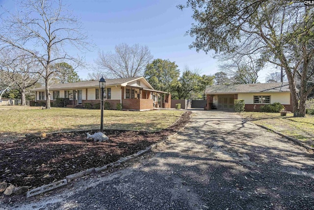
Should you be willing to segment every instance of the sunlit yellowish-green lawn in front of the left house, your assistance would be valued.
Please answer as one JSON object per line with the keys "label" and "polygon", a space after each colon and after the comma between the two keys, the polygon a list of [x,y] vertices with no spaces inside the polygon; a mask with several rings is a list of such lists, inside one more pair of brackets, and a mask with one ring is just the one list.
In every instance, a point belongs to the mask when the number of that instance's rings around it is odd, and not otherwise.
{"label": "sunlit yellowish-green lawn in front of the left house", "polygon": [[[180,118],[181,111],[115,111],[104,110],[104,129],[156,131],[167,128]],[[100,110],[21,107],[0,109],[0,136],[21,136],[34,132],[100,129]],[[0,139],[2,139],[0,137]]]}

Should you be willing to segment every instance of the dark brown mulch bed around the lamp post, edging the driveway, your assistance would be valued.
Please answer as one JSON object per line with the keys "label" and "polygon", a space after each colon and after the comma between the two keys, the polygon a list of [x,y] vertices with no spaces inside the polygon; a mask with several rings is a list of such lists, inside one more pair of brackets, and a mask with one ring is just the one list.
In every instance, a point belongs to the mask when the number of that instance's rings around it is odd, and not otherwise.
{"label": "dark brown mulch bed around the lamp post, edging the driveway", "polygon": [[[105,142],[86,140],[87,131],[77,131],[2,143],[0,182],[31,186],[32,189],[89,168],[103,167],[179,131],[189,121],[190,114],[185,112],[169,128],[153,133],[106,130],[109,140]],[[98,131],[90,131],[94,132]]]}

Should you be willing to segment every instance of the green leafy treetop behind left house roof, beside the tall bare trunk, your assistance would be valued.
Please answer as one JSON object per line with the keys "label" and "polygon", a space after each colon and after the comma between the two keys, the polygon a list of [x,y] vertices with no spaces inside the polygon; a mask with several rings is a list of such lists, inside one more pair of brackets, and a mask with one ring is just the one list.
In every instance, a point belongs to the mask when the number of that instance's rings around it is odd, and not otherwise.
{"label": "green leafy treetop behind left house roof, beside the tall bare trunk", "polygon": [[80,81],[78,73],[74,71],[72,65],[66,62],[54,64],[52,71],[55,72],[54,83],[75,83]]}

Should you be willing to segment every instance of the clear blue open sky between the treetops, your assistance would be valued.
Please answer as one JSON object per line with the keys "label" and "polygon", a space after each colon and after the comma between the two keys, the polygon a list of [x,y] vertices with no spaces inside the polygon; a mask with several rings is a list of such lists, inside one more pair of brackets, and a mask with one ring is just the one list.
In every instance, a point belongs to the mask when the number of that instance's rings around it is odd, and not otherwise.
{"label": "clear blue open sky between the treetops", "polygon": [[[73,14],[80,17],[84,29],[96,45],[85,54],[86,62],[93,68],[99,51],[114,52],[117,44],[147,45],[154,59],[175,61],[181,72],[184,66],[200,69],[202,74],[213,75],[218,63],[212,53],[197,53],[189,49],[194,38],[185,35],[190,29],[192,11],[179,10],[176,5],[186,0],[63,0]],[[0,4],[14,9],[11,0]],[[11,8],[10,8],[11,7]],[[93,69],[92,68],[92,69]],[[91,70],[78,69],[85,79]],[[264,77],[261,77],[262,82]]]}

